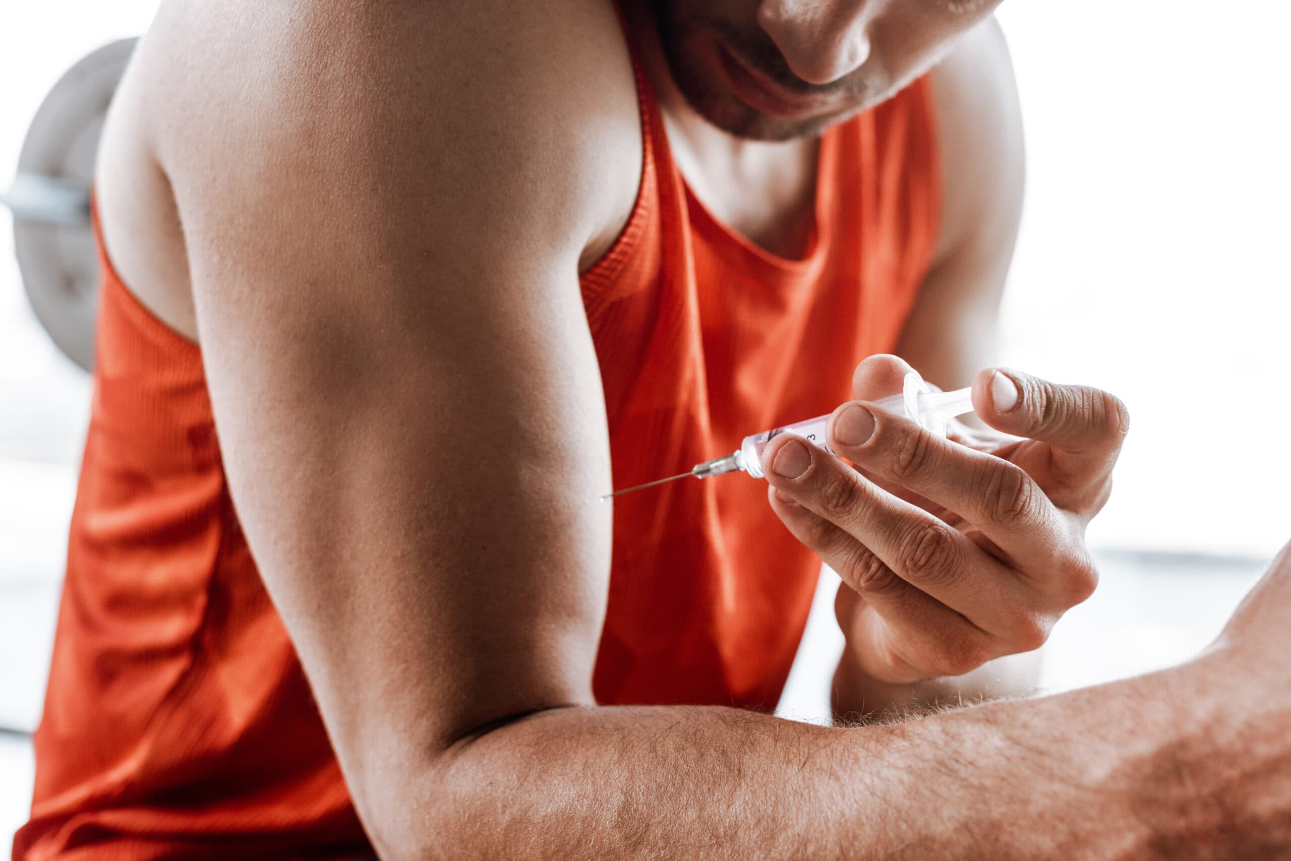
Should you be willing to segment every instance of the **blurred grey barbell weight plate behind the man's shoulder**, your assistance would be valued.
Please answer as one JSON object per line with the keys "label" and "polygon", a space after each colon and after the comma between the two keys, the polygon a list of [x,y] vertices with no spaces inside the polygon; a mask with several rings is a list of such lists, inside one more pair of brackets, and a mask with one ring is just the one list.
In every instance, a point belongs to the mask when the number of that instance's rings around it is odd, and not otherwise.
{"label": "blurred grey barbell weight plate behind the man's shoulder", "polygon": [[[36,111],[18,157],[25,174],[48,177],[46,186],[88,191],[103,117],[138,39],[103,45],[72,66]],[[14,186],[18,190],[18,183]],[[23,218],[13,222],[22,283],[45,330],[86,370],[94,360],[98,256],[88,217]]]}

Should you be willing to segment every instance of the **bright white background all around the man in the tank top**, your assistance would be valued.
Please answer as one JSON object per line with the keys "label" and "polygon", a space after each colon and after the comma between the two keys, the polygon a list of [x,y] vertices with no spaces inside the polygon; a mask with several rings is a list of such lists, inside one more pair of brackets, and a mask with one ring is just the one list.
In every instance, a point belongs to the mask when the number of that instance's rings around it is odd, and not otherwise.
{"label": "bright white background all around the man in the tank top", "polygon": [[[0,186],[58,76],[141,34],[155,5],[5,4]],[[1047,665],[1068,687],[1185,657],[1259,568],[1124,551],[1257,559],[1291,537],[1291,6],[1010,0],[999,18],[1029,151],[1004,359],[1109,389],[1133,414],[1090,531],[1121,552],[1100,555],[1104,586],[1059,626]],[[12,250],[0,209],[0,723],[31,724],[89,390],[35,324]],[[818,609],[784,706],[807,716],[837,649]],[[0,849],[30,781],[26,742],[0,736]]]}

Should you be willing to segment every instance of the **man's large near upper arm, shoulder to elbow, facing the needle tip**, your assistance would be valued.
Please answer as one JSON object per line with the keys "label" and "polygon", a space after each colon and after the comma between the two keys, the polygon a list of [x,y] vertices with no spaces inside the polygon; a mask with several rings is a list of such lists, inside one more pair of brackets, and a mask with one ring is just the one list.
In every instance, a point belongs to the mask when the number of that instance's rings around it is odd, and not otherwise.
{"label": "man's large near upper arm, shoulder to elbow, facing the needle tip", "polygon": [[456,737],[591,702],[609,453],[577,270],[639,132],[613,13],[563,6],[257,8],[218,127],[163,147],[234,503],[378,844]]}

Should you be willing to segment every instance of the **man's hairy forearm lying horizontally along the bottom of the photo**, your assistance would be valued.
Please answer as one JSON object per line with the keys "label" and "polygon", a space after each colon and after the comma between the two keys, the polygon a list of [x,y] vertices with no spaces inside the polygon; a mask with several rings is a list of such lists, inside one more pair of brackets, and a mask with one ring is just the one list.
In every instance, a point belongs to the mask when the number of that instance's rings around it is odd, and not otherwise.
{"label": "man's hairy forearm lying horizontally along the bottom of the photo", "polygon": [[[443,755],[421,796],[425,852],[407,838],[390,857],[1266,857],[1207,846],[1242,836],[1216,793],[1237,734],[1198,714],[1185,670],[859,729],[707,707],[540,713]],[[1282,756],[1286,773],[1286,745],[1264,741],[1260,767]],[[1281,816],[1287,790],[1265,782]]]}

